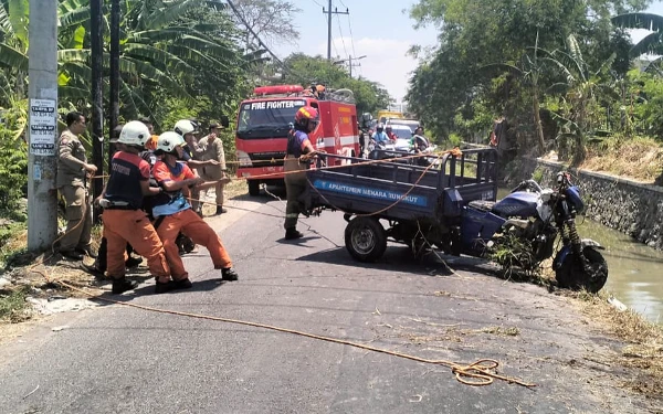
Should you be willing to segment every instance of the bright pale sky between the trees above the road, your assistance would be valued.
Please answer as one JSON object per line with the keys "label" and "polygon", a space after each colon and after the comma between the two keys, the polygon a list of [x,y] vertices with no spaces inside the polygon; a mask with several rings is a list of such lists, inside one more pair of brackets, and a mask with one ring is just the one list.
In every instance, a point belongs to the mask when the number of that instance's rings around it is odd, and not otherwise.
{"label": "bright pale sky between the trees above the road", "polygon": [[[293,52],[327,56],[328,0],[292,0],[302,12],[294,24],[299,40],[274,44],[271,49],[283,59]],[[408,10],[415,0],[333,0],[332,9],[349,11],[332,19],[332,56],[347,60],[349,56],[366,57],[355,61],[352,76],[358,75],[382,84],[397,103],[401,103],[408,88],[408,79],[417,67],[417,60],[407,55],[412,45],[434,46],[438,29],[425,26],[414,30],[414,20]],[[663,1],[654,1],[646,12],[663,15]],[[646,31],[633,31],[638,41]],[[333,87],[333,85],[332,85]]]}

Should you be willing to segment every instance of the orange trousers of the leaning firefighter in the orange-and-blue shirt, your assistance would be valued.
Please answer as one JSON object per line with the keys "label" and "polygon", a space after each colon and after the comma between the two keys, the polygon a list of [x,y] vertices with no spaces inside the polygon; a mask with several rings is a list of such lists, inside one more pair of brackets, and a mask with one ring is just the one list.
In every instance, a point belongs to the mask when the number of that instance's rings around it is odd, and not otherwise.
{"label": "orange trousers of the leaning firefighter in the orange-and-blue shirt", "polygon": [[225,252],[223,243],[221,243],[221,238],[219,238],[217,232],[196,214],[193,210],[187,209],[167,215],[157,227],[157,233],[164,243],[166,258],[170,265],[170,275],[173,280],[181,280],[189,277],[189,274],[185,269],[182,258],[179,255],[179,247],[175,243],[179,232],[191,237],[193,243],[203,245],[210,252],[214,268],[232,267],[230,256],[228,255],[228,252]]}

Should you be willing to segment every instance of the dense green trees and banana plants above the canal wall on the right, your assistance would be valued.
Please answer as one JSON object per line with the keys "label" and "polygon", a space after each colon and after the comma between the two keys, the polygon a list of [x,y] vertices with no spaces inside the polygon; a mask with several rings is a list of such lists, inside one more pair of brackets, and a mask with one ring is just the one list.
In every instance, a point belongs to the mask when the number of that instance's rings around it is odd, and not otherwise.
{"label": "dense green trees and banana plants above the canal wall on the right", "polygon": [[[417,25],[439,28],[407,100],[441,140],[487,142],[496,118],[511,145],[582,161],[588,142],[663,140],[663,17],[649,0],[419,0]],[[632,44],[628,29],[649,29]]]}

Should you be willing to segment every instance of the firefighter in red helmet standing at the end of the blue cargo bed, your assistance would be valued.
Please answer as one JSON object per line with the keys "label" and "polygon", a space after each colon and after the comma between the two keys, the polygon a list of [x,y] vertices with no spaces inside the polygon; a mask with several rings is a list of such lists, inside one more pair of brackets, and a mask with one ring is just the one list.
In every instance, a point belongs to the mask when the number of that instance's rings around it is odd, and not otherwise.
{"label": "firefighter in red helmet standing at the end of the blue cargo bed", "polygon": [[[295,114],[294,128],[287,136],[287,148],[285,151],[285,193],[287,203],[285,205],[285,240],[295,240],[304,235],[297,231],[297,219],[302,212],[299,195],[306,190],[306,172],[308,162],[299,160],[304,155],[313,155],[315,149],[308,139],[319,124],[319,115],[316,108],[303,106]],[[302,172],[293,172],[302,171]]]}

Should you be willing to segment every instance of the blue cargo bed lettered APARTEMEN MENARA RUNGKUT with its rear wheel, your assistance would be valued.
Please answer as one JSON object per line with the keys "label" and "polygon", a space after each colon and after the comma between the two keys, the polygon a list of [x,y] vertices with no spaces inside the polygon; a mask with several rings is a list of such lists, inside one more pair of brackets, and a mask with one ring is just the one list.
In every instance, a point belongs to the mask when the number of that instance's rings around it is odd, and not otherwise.
{"label": "blue cargo bed lettered APARTEMEN MENARA RUNGKUT with its rear wheel", "polygon": [[[495,201],[497,153],[470,149],[459,157],[429,156],[430,167],[411,157],[398,151],[385,151],[376,160],[320,157],[306,173],[305,210],[345,212],[346,247],[359,261],[379,258],[388,238],[415,251],[425,242],[453,253],[461,245],[465,205],[474,200]],[[380,220],[388,222],[387,229]]]}

